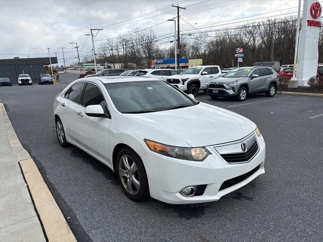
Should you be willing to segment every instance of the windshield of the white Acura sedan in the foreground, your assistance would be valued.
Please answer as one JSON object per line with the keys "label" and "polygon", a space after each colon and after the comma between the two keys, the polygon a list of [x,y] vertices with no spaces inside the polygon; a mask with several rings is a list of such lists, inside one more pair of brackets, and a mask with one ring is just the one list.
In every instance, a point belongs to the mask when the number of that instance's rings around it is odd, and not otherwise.
{"label": "windshield of the white Acura sedan in the foreground", "polygon": [[165,111],[199,103],[164,81],[119,82],[104,86],[122,113]]}

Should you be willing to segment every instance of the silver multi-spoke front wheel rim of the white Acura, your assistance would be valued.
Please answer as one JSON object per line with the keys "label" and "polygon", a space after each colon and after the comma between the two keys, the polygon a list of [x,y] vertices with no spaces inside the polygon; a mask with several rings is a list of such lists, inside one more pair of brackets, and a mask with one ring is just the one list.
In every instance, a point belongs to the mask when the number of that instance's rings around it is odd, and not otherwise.
{"label": "silver multi-spoke front wheel rim of the white Acura", "polygon": [[134,160],[123,155],[119,160],[119,174],[122,185],[131,195],[136,195],[140,190],[140,175]]}

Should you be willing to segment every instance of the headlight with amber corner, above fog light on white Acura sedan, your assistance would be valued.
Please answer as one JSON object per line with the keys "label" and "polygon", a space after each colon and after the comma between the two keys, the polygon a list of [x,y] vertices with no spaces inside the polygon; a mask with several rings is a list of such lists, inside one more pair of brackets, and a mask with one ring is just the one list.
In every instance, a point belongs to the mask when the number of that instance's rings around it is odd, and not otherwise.
{"label": "headlight with amber corner, above fog light on white Acura sedan", "polygon": [[177,147],[157,143],[147,139],[144,141],[151,151],[182,160],[202,161],[211,154],[205,147]]}

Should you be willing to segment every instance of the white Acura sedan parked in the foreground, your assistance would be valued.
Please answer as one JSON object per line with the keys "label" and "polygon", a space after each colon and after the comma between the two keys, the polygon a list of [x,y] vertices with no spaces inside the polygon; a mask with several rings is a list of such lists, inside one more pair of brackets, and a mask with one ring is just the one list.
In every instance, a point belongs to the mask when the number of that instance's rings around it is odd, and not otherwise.
{"label": "white Acura sedan parked in the foreground", "polygon": [[109,166],[135,201],[217,201],[264,173],[254,123],[164,81],[82,78],[56,96],[53,112],[61,146]]}

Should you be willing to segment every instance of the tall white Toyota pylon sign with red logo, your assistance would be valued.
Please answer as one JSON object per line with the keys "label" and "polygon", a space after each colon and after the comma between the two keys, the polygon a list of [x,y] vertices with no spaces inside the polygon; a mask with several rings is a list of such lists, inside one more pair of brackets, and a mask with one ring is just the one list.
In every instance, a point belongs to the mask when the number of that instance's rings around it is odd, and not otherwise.
{"label": "tall white Toyota pylon sign with red logo", "polygon": [[316,76],[318,38],[322,7],[318,0],[304,0],[302,26],[299,32],[297,71],[298,86],[307,86],[308,79]]}

